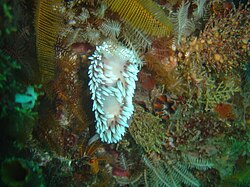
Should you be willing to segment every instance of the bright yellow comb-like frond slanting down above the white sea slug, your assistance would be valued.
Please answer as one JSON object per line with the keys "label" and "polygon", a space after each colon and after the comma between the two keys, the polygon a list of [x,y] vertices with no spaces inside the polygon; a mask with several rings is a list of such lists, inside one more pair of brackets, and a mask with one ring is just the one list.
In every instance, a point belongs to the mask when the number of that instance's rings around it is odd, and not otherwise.
{"label": "bright yellow comb-like frond slanting down above the white sea slug", "polygon": [[[164,11],[152,0],[104,0],[121,18],[145,34],[164,37],[173,26]],[[139,10],[139,11],[138,11]]]}

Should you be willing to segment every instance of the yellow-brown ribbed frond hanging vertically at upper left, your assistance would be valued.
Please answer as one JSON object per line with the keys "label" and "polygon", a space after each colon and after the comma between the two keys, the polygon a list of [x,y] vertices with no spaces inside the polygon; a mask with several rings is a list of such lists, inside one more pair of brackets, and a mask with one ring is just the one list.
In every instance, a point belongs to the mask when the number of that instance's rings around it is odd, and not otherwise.
{"label": "yellow-brown ribbed frond hanging vertically at upper left", "polygon": [[60,3],[61,0],[37,2],[35,13],[37,58],[42,83],[47,83],[53,79],[55,74],[54,47],[63,20],[53,6]]}

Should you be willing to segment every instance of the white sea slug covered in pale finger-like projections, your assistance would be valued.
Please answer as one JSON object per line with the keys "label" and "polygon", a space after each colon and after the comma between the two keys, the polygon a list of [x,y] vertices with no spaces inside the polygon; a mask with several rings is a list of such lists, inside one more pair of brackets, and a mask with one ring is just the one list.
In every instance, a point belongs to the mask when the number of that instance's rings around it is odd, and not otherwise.
{"label": "white sea slug covered in pale finger-like projections", "polygon": [[134,112],[132,99],[141,61],[134,51],[112,42],[97,46],[89,59],[96,132],[101,141],[117,143]]}

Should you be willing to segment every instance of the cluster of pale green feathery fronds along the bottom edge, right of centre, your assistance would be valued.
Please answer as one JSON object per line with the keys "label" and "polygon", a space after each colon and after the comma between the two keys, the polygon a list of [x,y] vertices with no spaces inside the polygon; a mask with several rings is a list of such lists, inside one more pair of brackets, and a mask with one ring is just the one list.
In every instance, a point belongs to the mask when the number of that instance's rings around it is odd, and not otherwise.
{"label": "cluster of pale green feathery fronds along the bottom edge, right of centre", "polygon": [[199,181],[189,171],[192,168],[207,170],[212,167],[208,161],[197,157],[186,156],[180,160],[166,158],[166,160],[156,160],[143,156],[143,161],[147,166],[146,178],[150,186],[176,186],[183,184],[188,186],[200,186]]}

